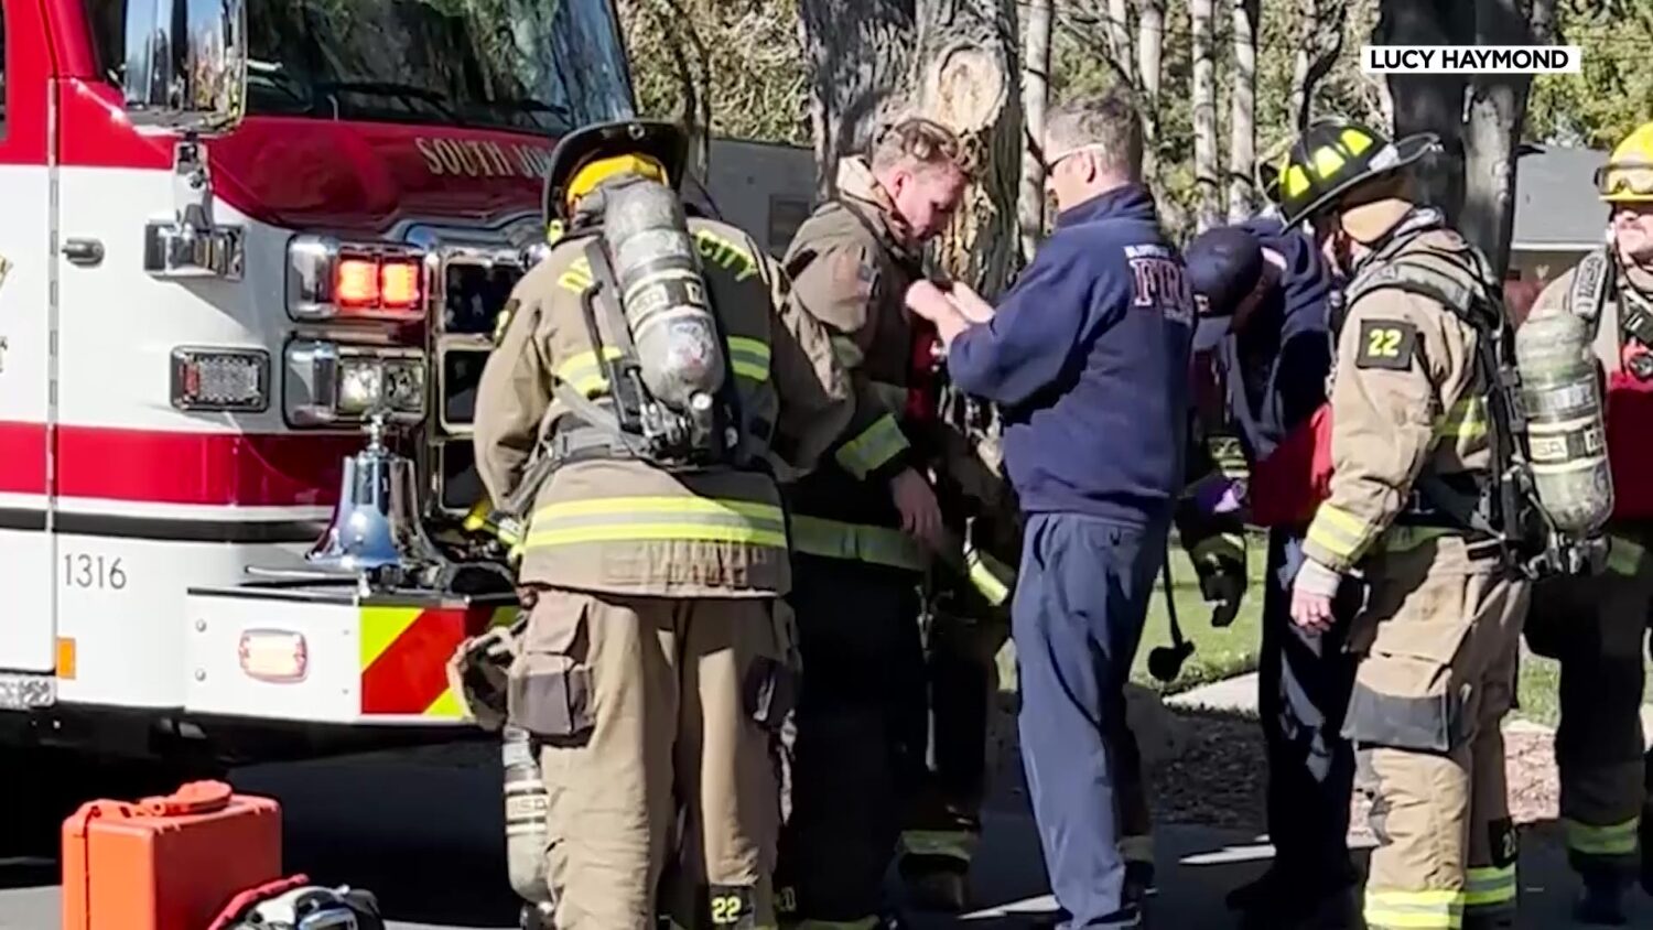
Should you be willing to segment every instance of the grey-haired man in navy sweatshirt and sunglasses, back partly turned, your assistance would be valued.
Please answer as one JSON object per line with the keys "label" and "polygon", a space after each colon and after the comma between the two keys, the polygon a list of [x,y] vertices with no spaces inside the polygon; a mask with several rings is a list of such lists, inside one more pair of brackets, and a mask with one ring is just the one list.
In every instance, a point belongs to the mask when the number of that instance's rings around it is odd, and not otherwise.
{"label": "grey-haired man in navy sweatshirt and sunglasses, back partly turned", "polygon": [[959,390],[1000,405],[1027,514],[1012,636],[1023,766],[1060,927],[1136,927],[1117,791],[1124,684],[1184,486],[1193,296],[1119,94],[1051,112],[1056,228],[993,311],[917,282]]}

